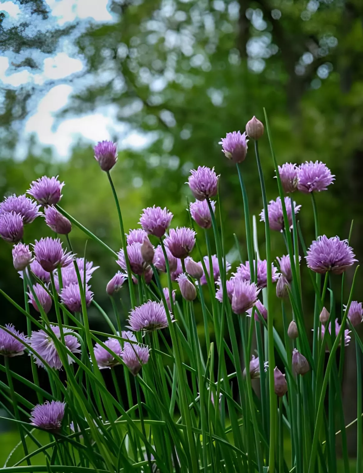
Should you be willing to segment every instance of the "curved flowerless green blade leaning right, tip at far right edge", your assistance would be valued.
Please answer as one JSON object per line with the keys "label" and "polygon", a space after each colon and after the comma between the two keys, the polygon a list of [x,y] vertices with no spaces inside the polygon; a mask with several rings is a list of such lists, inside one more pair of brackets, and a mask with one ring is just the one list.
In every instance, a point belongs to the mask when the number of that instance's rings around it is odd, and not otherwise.
{"label": "curved flowerless green blade leaning right, tip at far right edge", "polygon": [[[342,324],[341,324],[340,329],[339,329],[339,333],[338,333],[338,335],[337,335],[337,337],[334,341],[333,347],[330,350],[330,354],[329,354],[328,364],[327,364],[327,368],[326,368],[326,371],[325,371],[325,376],[324,376],[324,380],[323,380],[323,384],[322,384],[322,388],[321,388],[319,407],[318,407],[318,411],[317,411],[317,414],[316,414],[315,429],[314,429],[314,436],[312,438],[312,450],[311,450],[311,455],[310,455],[308,473],[313,473],[314,468],[315,468],[315,459],[316,459],[316,454],[317,454],[317,449],[318,449],[319,434],[320,434],[320,430],[321,430],[321,422],[322,422],[322,418],[323,418],[324,398],[325,398],[325,393],[326,393],[326,390],[327,390],[329,374],[330,374],[330,370],[333,366],[333,363],[335,363],[335,353],[336,353],[336,351],[338,349],[338,346],[339,346],[339,343],[341,341],[342,333],[344,333],[344,328],[345,328],[345,325],[346,325],[346,319],[348,317],[348,310],[349,310],[349,307],[350,307],[350,304],[351,304],[352,298],[353,298],[353,290],[354,290],[354,287],[355,287],[355,278],[356,278],[356,275],[357,275],[358,268],[359,268],[359,266],[357,266],[356,269],[355,269],[353,282],[352,282],[352,288],[350,290],[348,303],[347,303],[347,306],[346,306],[346,310],[344,312],[344,316],[343,316]],[[325,335],[325,333],[324,333],[324,335]]]}

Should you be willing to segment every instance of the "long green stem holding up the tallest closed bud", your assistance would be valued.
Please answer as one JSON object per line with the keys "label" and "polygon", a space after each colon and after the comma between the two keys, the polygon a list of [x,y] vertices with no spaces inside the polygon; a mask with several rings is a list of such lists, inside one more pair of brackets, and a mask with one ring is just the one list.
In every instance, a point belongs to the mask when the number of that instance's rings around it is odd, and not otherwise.
{"label": "long green stem holding up the tallest closed bud", "polygon": [[[256,154],[256,161],[258,167],[258,173],[260,175],[263,210],[265,214],[265,235],[266,235],[266,260],[267,260],[267,300],[268,300],[268,313],[267,317],[267,337],[268,337],[268,352],[269,352],[269,394],[270,394],[270,453],[269,453],[269,470],[273,472],[275,470],[275,431],[276,431],[276,410],[277,402],[274,393],[274,374],[273,370],[275,367],[275,354],[274,354],[274,342],[273,342],[273,314],[272,314],[272,259],[271,259],[271,242],[270,242],[270,223],[269,223],[269,210],[267,205],[266,188],[262,173],[262,166],[260,161],[260,155],[258,152],[257,141],[254,142],[254,150]],[[251,263],[250,263],[251,264]],[[292,264],[293,266],[293,264]]]}

